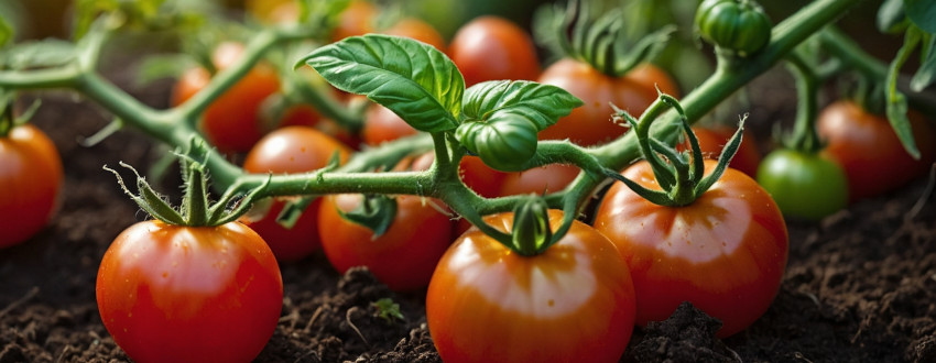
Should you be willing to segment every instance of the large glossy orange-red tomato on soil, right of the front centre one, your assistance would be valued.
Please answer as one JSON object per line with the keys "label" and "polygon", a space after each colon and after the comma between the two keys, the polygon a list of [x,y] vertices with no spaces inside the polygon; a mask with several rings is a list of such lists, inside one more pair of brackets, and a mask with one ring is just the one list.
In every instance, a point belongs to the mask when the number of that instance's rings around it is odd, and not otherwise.
{"label": "large glossy orange-red tomato on soil, right of the front centre one", "polygon": [[[715,165],[706,161],[706,174]],[[645,161],[623,175],[660,190]],[[617,183],[596,212],[595,228],[630,266],[641,326],[689,301],[722,321],[718,337],[731,336],[766,311],[786,266],[788,235],[780,209],[732,168],[684,207],[654,205]]]}

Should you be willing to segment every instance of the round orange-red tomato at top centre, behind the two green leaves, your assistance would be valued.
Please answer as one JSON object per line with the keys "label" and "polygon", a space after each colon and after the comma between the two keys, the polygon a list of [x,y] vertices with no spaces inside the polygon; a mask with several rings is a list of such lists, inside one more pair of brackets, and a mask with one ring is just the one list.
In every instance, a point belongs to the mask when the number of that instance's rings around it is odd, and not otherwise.
{"label": "round orange-red tomato at top centre, behind the two green leaves", "polygon": [[540,75],[536,46],[530,34],[498,16],[475,18],[458,29],[448,45],[465,86],[486,80],[534,80]]}

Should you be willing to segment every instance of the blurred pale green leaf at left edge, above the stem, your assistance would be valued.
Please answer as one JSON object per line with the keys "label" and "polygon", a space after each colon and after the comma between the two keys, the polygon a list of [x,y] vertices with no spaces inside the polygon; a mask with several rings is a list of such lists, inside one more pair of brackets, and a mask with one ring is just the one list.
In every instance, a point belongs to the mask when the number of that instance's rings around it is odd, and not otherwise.
{"label": "blurred pale green leaf at left edge, above the stem", "polygon": [[68,64],[76,57],[75,44],[62,40],[46,38],[3,48],[0,52],[0,68],[54,67]]}

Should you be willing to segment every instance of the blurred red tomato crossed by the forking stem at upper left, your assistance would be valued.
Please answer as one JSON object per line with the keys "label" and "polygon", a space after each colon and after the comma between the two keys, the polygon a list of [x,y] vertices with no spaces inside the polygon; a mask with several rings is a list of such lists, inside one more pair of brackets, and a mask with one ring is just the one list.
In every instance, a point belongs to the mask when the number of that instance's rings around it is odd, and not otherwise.
{"label": "blurred red tomato crossed by the forking stem at upper left", "polygon": [[[215,50],[213,62],[225,69],[243,53],[243,45],[222,43]],[[185,72],[173,89],[172,105],[178,106],[195,96],[210,81],[204,68]],[[205,110],[199,128],[208,141],[222,153],[246,152],[268,131],[260,118],[263,100],[280,89],[276,72],[259,64],[225,91]]]}

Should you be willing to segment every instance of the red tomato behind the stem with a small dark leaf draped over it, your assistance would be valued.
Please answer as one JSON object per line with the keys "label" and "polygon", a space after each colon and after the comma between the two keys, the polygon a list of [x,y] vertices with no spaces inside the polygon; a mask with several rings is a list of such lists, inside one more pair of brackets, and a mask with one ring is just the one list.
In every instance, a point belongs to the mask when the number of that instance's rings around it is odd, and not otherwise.
{"label": "red tomato behind the stem with a small dark leaf draped over it", "polygon": [[[323,197],[318,212],[322,248],[340,273],[367,266],[380,282],[396,292],[415,290],[429,283],[438,258],[451,242],[448,216],[416,196],[396,197],[396,216],[380,237],[341,217],[360,206],[363,196],[355,194]],[[436,204],[442,205],[436,201]]]}

